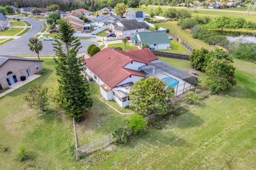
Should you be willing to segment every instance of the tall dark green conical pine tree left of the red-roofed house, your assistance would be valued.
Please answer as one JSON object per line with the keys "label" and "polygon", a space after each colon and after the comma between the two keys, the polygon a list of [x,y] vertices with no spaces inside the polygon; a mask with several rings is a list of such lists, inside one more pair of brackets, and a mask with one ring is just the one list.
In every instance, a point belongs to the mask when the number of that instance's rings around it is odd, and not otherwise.
{"label": "tall dark green conical pine tree left of the red-roofed house", "polygon": [[83,111],[92,107],[88,80],[82,75],[84,56],[76,57],[82,47],[79,40],[73,36],[74,29],[67,20],[58,23],[59,35],[56,36],[54,51],[58,58],[54,58],[58,75],[58,101],[69,117],[77,122],[83,120]]}

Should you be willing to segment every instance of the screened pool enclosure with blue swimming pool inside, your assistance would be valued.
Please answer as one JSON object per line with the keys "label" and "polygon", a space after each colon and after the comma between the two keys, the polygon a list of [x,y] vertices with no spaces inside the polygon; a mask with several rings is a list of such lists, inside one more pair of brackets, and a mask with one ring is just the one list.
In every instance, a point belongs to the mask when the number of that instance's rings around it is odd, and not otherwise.
{"label": "screened pool enclosure with blue swimming pool inside", "polygon": [[165,88],[169,85],[174,87],[176,95],[185,93],[186,89],[191,90],[198,80],[194,75],[186,73],[185,71],[159,60],[139,67],[139,71],[145,74],[146,78],[157,77],[158,79],[165,81],[167,84]]}

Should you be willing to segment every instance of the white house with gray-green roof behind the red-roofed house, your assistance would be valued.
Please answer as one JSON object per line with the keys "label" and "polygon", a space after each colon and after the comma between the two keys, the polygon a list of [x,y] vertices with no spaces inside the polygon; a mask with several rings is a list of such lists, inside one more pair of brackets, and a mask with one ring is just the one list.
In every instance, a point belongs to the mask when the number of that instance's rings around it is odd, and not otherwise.
{"label": "white house with gray-green roof behind the red-roofed house", "polygon": [[166,32],[162,31],[143,31],[136,33],[131,38],[132,45],[139,45],[142,47],[144,44],[148,44],[150,49],[169,49],[170,40]]}

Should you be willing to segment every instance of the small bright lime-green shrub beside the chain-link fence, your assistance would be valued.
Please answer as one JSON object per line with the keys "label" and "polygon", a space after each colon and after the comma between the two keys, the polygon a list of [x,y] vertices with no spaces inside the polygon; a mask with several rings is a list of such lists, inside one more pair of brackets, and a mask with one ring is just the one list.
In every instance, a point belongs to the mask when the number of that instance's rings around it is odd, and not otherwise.
{"label": "small bright lime-green shrub beside the chain-link fence", "polygon": [[146,128],[146,121],[142,118],[141,115],[135,114],[129,121],[126,122],[126,125],[132,130],[134,134],[140,134],[142,130]]}

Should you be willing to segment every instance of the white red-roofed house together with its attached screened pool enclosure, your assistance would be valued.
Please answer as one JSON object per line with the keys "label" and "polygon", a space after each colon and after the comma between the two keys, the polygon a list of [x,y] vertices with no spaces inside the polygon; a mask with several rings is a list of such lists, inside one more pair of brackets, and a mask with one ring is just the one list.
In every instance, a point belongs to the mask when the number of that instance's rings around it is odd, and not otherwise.
{"label": "white red-roofed house together with its attached screened pool enclosure", "polygon": [[166,81],[167,86],[174,87],[176,95],[192,89],[198,79],[158,60],[148,48],[128,52],[105,48],[85,59],[85,63],[86,74],[100,86],[101,95],[106,100],[114,99],[121,107],[130,105],[130,88],[141,78]]}

